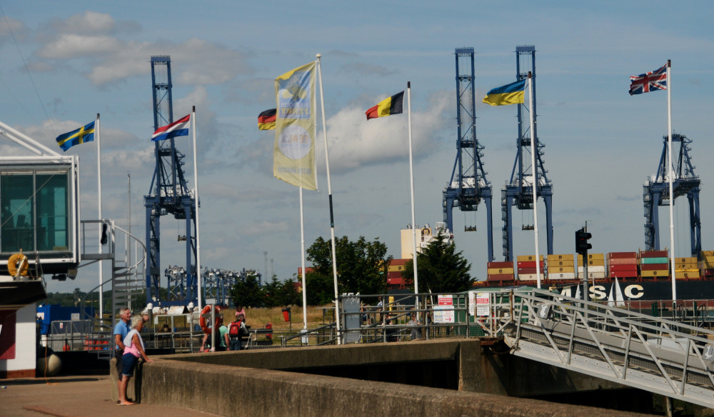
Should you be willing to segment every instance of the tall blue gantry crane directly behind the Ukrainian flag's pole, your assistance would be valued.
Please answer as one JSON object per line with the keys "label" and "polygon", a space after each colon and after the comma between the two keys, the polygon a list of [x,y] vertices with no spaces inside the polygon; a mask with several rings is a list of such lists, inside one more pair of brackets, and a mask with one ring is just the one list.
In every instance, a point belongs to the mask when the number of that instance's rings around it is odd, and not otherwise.
{"label": "tall blue gantry crane directly behind the Ukrainian flag's pole", "polygon": [[[501,189],[501,218],[503,219],[503,256],[506,261],[513,261],[513,206],[520,210],[533,210],[533,182],[535,178],[536,194],[543,197],[545,203],[545,228],[548,239],[548,254],[553,254],[553,184],[543,167],[543,145],[538,140],[538,112],[535,101],[535,46],[516,46],[516,81],[533,77],[533,102],[518,104],[518,139],[516,139],[516,161],[513,163],[511,179]],[[530,112],[533,112],[533,131],[531,132]],[[535,143],[535,165],[531,166],[531,135]],[[537,219],[533,219],[536,221]],[[523,224],[523,230],[532,230],[533,225]]]}

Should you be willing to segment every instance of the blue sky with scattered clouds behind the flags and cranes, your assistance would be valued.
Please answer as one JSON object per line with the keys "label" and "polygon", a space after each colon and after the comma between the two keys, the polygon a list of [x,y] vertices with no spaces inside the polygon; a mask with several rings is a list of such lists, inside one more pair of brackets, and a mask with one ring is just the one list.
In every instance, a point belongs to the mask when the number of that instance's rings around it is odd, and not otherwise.
{"label": "blue sky with scattered clouds behind the flags and cranes", "polygon": [[[151,55],[170,55],[174,115],[197,109],[201,263],[289,278],[300,265],[298,190],[272,176],[273,132],[258,131],[259,112],[275,106],[273,79],[322,54],[337,236],[380,238],[400,254],[399,229],[411,223],[406,115],[367,122],[364,111],[411,81],[416,223],[442,220],[442,190],[456,157],[454,49],[476,51],[477,101],[515,79],[518,45],[533,44],[538,135],[553,181],[555,253],[573,253],[573,232],[588,221],[593,251],[644,248],[642,185],[655,174],[667,133],[665,92],[629,96],[629,76],[673,62],[673,129],[693,139],[702,179],[703,248],[714,248],[714,6],[682,1],[211,1],[121,3],[0,1],[0,120],[48,146],[54,137],[102,121],[104,217],[126,226],[131,174],[132,230],[144,234],[143,196],[154,168]],[[596,9],[596,10],[595,10]],[[11,31],[9,30],[11,29]],[[13,36],[14,35],[14,38]],[[29,70],[29,74],[28,71]],[[501,186],[516,156],[516,107],[478,104],[476,132],[493,186],[493,236],[502,260]],[[321,129],[321,127],[318,127]],[[320,130],[321,132],[321,130]],[[321,138],[321,134],[319,136]],[[187,155],[193,186],[191,143]],[[330,235],[322,142],[320,192],[306,192],[306,246]],[[21,154],[0,142],[2,154]],[[96,213],[96,146],[81,158],[82,212]],[[540,253],[545,217],[539,205]],[[486,276],[486,210],[454,211],[458,250]],[[514,251],[533,254],[532,212],[514,211]],[[660,208],[662,246],[668,210]],[[476,224],[476,233],[463,231]],[[161,219],[162,268],[182,263],[173,236],[183,223]],[[675,204],[675,252],[689,255],[688,204]],[[164,243],[165,242],[165,243]],[[49,291],[89,289],[96,273]],[[264,271],[263,271],[264,272]]]}

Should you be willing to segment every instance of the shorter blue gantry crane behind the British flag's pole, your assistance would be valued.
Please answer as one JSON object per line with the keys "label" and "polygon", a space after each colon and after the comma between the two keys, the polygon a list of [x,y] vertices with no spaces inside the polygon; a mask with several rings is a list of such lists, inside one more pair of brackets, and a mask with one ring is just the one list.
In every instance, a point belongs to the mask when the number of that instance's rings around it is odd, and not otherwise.
{"label": "shorter blue gantry crane behind the British flag's pole", "polygon": [[[643,185],[643,200],[645,206],[645,248],[648,251],[660,250],[660,229],[658,207],[669,204],[668,173],[668,137],[663,136],[664,147],[660,156],[657,175],[648,178]],[[701,223],[699,218],[699,177],[694,174],[694,166],[689,156],[691,139],[682,134],[672,134],[672,159],[674,175],[672,191],[675,201],[677,197],[687,196],[689,200],[689,225],[692,255],[696,256],[702,250]],[[679,151],[674,148],[679,144]],[[676,158],[676,160],[675,160]]]}

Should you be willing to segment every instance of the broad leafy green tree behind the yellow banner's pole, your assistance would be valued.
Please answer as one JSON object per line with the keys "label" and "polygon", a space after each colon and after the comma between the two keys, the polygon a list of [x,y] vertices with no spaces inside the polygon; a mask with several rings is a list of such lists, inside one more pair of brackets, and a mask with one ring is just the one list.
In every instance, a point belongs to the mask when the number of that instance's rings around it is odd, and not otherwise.
{"label": "broad leafy green tree behind the yellow banner's pole", "polygon": [[[338,293],[383,293],[386,288],[388,262],[387,246],[376,238],[368,242],[364,236],[357,241],[350,241],[342,236],[335,241],[338,273]],[[334,298],[334,278],[332,271],[332,243],[319,237],[307,250],[307,259],[313,264],[313,272],[306,276],[308,298],[314,300],[311,293],[318,291],[329,293],[329,300]],[[309,280],[307,278],[310,278]],[[329,285],[329,286],[328,286]],[[331,291],[326,291],[330,288]],[[320,297],[325,301],[326,296]],[[308,301],[308,303],[310,303]]]}

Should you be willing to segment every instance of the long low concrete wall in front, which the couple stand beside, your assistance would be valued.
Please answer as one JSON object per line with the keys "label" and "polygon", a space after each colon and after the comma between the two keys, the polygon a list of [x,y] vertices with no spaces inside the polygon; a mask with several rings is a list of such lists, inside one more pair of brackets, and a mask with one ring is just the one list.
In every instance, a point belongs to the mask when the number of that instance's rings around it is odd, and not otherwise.
{"label": "long low concrete wall in front, which the couple stand beside", "polygon": [[[233,353],[241,354],[241,353]],[[226,391],[228,388],[228,391]],[[141,401],[219,416],[638,416],[440,388],[159,359],[141,375]]]}

